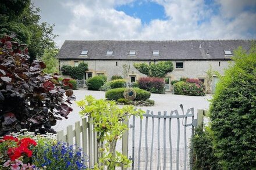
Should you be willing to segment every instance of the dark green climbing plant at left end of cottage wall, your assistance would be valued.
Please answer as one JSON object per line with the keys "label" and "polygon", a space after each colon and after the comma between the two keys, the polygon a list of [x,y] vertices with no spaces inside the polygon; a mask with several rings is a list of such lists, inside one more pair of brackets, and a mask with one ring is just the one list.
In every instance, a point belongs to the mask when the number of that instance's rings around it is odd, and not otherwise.
{"label": "dark green climbing plant at left end of cottage wall", "polygon": [[70,75],[73,79],[83,79],[84,72],[88,70],[88,63],[80,63],[79,66],[62,66],[61,72],[63,75]]}

